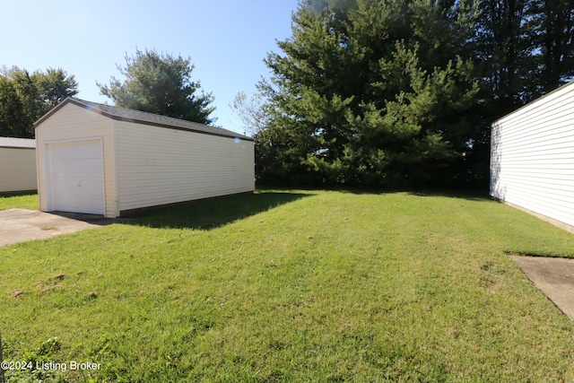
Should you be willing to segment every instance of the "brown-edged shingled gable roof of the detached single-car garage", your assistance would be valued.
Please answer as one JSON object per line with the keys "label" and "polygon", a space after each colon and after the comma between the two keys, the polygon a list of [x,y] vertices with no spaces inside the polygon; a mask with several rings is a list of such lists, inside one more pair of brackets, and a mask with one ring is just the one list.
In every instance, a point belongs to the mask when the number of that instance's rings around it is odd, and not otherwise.
{"label": "brown-edged shingled gable roof of the detached single-car garage", "polygon": [[36,121],[34,127],[39,126],[39,124],[41,124],[44,120],[48,119],[59,109],[62,109],[66,104],[69,103],[85,109],[89,109],[107,118],[112,118],[119,121],[135,122],[143,125],[161,126],[170,129],[189,130],[192,132],[203,133],[205,135],[221,135],[231,138],[237,137],[244,140],[253,141],[253,138],[248,137],[247,135],[239,135],[238,133],[223,129],[222,127],[206,126],[196,122],[187,121],[185,119],[160,116],[153,113],[143,112],[141,110],[118,108],[111,105],[99,104],[97,102],[80,100],[73,97],[68,97],[59,103],[56,108],[50,110],[46,115]]}

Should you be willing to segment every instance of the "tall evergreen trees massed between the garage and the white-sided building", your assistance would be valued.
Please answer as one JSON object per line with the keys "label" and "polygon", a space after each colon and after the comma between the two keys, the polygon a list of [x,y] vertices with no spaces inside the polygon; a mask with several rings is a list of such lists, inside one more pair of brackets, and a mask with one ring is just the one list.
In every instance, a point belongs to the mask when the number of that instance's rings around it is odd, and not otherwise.
{"label": "tall evergreen trees massed between the garage and the white-sided building", "polygon": [[258,84],[265,183],[461,187],[490,125],[574,74],[570,0],[306,0]]}

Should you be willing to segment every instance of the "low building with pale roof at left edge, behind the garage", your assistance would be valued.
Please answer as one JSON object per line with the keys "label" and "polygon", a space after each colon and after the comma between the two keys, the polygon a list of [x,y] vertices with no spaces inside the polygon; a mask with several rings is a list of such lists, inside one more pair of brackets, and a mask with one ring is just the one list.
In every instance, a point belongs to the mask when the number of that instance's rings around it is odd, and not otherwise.
{"label": "low building with pale roof at left edge, behind the garage", "polygon": [[0,137],[0,193],[37,188],[36,141]]}

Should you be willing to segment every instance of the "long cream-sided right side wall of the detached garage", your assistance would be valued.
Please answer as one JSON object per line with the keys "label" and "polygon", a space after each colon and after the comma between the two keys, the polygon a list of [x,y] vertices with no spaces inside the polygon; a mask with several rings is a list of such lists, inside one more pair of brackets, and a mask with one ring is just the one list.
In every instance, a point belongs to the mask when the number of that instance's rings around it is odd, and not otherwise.
{"label": "long cream-sided right side wall of the detached garage", "polygon": [[251,141],[116,124],[120,211],[255,189]]}

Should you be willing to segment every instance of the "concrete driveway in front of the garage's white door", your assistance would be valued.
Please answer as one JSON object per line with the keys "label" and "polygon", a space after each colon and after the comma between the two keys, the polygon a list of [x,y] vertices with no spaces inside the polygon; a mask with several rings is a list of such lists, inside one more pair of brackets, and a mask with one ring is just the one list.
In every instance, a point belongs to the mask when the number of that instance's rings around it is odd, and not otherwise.
{"label": "concrete driveway in front of the garage's white door", "polygon": [[0,211],[0,246],[47,239],[69,232],[98,228],[118,222],[101,215],[81,213],[43,213],[36,210]]}

